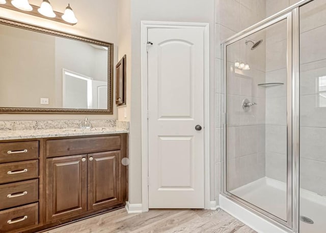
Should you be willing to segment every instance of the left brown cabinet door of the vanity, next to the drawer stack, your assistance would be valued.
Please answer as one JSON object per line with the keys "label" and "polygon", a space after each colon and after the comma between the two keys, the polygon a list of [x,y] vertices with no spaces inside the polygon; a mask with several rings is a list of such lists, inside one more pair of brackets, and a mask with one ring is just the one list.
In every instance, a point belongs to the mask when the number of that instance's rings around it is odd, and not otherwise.
{"label": "left brown cabinet door of the vanity, next to the drawer stack", "polygon": [[47,222],[87,211],[87,155],[46,160],[46,207]]}

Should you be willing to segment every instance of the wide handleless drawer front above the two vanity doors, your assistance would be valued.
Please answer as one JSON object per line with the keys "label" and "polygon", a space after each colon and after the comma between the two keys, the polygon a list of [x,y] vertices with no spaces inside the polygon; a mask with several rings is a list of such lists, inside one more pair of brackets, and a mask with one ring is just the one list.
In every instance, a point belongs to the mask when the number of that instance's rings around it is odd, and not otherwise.
{"label": "wide handleless drawer front above the two vanity doors", "polygon": [[82,155],[120,150],[121,136],[85,137],[46,141],[46,157]]}

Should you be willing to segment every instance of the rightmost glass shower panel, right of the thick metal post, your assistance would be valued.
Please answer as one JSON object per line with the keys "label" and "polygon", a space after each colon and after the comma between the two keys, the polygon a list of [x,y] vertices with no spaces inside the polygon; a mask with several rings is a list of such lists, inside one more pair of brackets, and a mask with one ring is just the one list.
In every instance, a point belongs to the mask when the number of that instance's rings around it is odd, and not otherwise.
{"label": "rightmost glass shower panel, right of the thick metal post", "polygon": [[326,2],[300,7],[300,226],[326,231]]}

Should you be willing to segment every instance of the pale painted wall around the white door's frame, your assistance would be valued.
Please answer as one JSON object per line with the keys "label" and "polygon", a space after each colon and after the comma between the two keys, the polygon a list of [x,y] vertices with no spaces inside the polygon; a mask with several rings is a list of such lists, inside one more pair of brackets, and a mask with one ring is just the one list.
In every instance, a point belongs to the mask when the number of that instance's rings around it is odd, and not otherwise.
{"label": "pale painted wall around the white door's frame", "polygon": [[[210,78],[211,100],[214,86],[214,0],[138,0],[131,1],[131,114],[130,114],[130,166],[129,166],[129,201],[142,202],[142,166],[141,166],[141,20],[208,22],[210,23]],[[130,61],[130,60],[129,60]],[[213,108],[213,101],[211,107]],[[211,112],[213,129],[214,114]],[[213,130],[211,131],[211,136]],[[214,143],[212,137],[212,148]],[[211,151],[211,155],[214,153]],[[214,164],[212,162],[212,164]],[[211,198],[214,199],[214,176],[211,176]]]}

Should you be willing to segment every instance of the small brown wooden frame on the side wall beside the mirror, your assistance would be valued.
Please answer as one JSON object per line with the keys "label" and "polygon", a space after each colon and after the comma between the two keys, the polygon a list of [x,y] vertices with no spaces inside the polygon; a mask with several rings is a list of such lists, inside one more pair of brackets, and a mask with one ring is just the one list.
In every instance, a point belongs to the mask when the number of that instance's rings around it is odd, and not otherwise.
{"label": "small brown wooden frame on the side wall beside the mirror", "polygon": [[116,104],[126,105],[126,55],[116,65]]}

